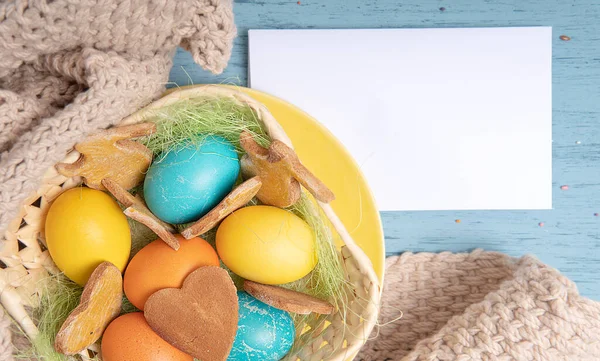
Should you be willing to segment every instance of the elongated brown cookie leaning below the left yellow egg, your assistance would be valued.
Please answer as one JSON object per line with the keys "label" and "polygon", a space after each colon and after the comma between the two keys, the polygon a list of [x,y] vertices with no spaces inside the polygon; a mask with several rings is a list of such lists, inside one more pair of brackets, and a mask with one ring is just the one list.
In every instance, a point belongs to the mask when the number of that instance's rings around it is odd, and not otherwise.
{"label": "elongated brown cookie leaning below the left yellow egg", "polygon": [[56,351],[74,355],[96,342],[119,315],[122,299],[121,271],[110,262],[101,263],[85,285],[79,306],[58,331],[54,342]]}

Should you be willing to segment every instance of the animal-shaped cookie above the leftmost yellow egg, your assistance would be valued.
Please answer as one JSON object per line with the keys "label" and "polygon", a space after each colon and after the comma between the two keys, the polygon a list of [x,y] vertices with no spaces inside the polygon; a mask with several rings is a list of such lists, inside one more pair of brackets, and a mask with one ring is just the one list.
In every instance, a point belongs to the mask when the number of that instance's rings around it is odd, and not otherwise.
{"label": "animal-shaped cookie above the leftmost yellow egg", "polygon": [[85,184],[104,190],[102,180],[110,178],[121,187],[131,189],[144,180],[152,162],[152,152],[144,145],[130,140],[152,134],[153,123],[139,123],[111,128],[86,138],[75,146],[81,153],[75,163],[59,163],[56,169],[66,177],[81,176]]}

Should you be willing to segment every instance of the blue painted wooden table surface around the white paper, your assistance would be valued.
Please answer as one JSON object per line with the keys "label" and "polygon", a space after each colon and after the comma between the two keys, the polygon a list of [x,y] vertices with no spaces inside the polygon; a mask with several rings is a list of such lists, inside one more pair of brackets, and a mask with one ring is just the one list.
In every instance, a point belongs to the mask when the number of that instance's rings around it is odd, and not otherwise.
{"label": "blue painted wooden table surface around the white paper", "polygon": [[180,50],[171,81],[246,85],[248,29],[552,26],[554,210],[384,212],[386,249],[531,253],[600,300],[598,0],[237,0],[234,9],[239,36],[225,72],[204,72]]}

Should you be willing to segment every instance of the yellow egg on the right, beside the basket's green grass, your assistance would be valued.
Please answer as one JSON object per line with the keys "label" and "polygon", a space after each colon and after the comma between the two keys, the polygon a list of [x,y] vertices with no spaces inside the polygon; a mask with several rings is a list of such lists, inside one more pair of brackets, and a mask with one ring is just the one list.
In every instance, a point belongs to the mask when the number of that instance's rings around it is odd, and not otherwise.
{"label": "yellow egg on the right, beside the basket's green grass", "polygon": [[239,209],[217,230],[221,261],[237,275],[264,284],[306,276],[317,264],[315,236],[298,216],[270,206]]}

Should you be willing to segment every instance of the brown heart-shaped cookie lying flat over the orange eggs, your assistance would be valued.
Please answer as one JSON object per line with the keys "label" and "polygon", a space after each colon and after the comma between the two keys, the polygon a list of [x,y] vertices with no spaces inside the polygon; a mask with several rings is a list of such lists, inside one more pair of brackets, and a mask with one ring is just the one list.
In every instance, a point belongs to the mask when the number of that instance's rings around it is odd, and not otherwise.
{"label": "brown heart-shaped cookie lying flat over the orange eggs", "polygon": [[236,288],[224,269],[201,267],[181,289],[152,294],[144,316],[154,332],[181,351],[202,361],[225,361],[237,332]]}

